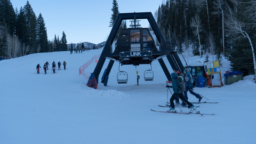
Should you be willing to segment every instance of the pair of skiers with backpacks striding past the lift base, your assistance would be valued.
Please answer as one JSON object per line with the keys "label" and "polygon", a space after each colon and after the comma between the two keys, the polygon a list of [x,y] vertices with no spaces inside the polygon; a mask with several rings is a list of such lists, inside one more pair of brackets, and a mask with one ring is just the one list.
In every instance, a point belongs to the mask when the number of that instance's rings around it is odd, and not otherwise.
{"label": "pair of skiers with backpacks striding past the lift base", "polygon": [[[184,69],[183,73],[180,73],[177,68],[174,68],[173,72],[174,73],[171,74],[172,86],[166,85],[167,88],[171,87],[174,92],[172,94],[172,97],[170,98],[170,110],[167,111],[176,113],[177,111],[175,110],[173,101],[175,100],[176,103],[179,105],[179,99],[181,99],[182,106],[188,106],[188,108],[190,108],[189,112],[192,113],[196,109],[196,107],[188,101],[187,92],[189,91],[191,94],[195,95],[195,97],[198,99],[198,102],[202,100],[202,97],[193,91],[193,77],[190,74],[189,69]],[[183,93],[185,95],[183,95]]]}

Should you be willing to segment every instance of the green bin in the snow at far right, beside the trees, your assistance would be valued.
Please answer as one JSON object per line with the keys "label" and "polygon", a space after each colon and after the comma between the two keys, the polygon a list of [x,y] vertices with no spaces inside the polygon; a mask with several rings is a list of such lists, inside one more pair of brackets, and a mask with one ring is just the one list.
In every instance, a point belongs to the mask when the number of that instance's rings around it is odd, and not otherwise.
{"label": "green bin in the snow at far right, beside the trees", "polygon": [[241,71],[230,71],[229,73],[224,74],[225,76],[225,85],[234,84],[240,80],[244,80],[243,73]]}

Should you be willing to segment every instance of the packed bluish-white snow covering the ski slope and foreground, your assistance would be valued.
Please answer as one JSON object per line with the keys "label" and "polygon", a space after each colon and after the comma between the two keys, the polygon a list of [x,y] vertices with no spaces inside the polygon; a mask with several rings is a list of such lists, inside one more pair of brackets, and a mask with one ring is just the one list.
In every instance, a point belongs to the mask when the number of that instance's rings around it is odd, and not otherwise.
{"label": "packed bluish-white snow covering the ski slope and foreground", "polygon": [[[152,63],[154,81],[143,79],[150,65],[124,65],[127,84],[117,84],[118,63],[115,62],[107,86],[99,83],[98,90],[87,87],[87,77],[97,62],[93,61],[84,75],[78,69],[102,49],[83,53],[36,53],[0,61],[0,143],[254,143],[256,138],[255,89],[253,76],[222,87],[196,87],[195,91],[217,104],[195,104],[201,113],[215,115],[182,115],[157,113],[169,101],[166,77],[158,61]],[[184,54],[187,63],[203,58]],[[210,55],[210,60],[211,60]],[[169,71],[172,68],[163,58]],[[185,61],[180,55],[185,65]],[[36,65],[43,68],[48,61],[67,62],[67,69],[51,74],[36,74]],[[108,65],[105,61],[100,76]],[[193,64],[194,65],[194,64]],[[201,64],[203,65],[203,64]],[[222,60],[221,75],[230,70]],[[137,74],[140,79],[137,85]],[[219,85],[220,76],[213,81]],[[222,77],[223,78],[223,77]],[[224,78],[222,79],[224,84]],[[172,90],[171,90],[172,92]],[[197,102],[188,93],[190,102]],[[179,112],[180,108],[176,107]],[[188,108],[181,108],[188,112]]]}

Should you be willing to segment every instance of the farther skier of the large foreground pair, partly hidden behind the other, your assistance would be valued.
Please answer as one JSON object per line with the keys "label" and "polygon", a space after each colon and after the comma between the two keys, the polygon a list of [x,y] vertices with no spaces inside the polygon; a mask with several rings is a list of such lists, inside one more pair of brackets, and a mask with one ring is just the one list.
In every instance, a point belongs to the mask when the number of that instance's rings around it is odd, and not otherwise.
{"label": "farther skier of the large foreground pair, partly hidden behind the other", "polygon": [[203,97],[201,97],[199,94],[197,94],[197,93],[195,93],[195,92],[193,91],[193,84],[191,83],[191,81],[193,81],[193,79],[191,79],[192,76],[191,76],[191,74],[190,74],[189,69],[184,69],[184,74],[185,74],[185,76],[187,76],[188,79],[189,79],[188,82],[186,83],[186,90],[185,90],[185,92],[184,92],[184,94],[185,94],[185,99],[188,100],[188,94],[187,94],[187,92],[189,91],[191,94],[195,95],[195,97],[198,99],[198,102],[200,102],[200,101],[203,99]]}

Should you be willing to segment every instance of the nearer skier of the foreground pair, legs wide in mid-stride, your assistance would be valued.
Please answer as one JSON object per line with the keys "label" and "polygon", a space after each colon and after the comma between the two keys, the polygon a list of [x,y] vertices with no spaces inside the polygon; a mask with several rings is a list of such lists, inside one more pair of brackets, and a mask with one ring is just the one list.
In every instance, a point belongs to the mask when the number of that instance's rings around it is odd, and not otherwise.
{"label": "nearer skier of the foreground pair, legs wide in mid-stride", "polygon": [[166,85],[166,87],[171,87],[173,89],[174,93],[173,93],[172,97],[170,98],[171,106],[170,106],[170,109],[168,111],[172,112],[172,113],[177,112],[175,110],[173,101],[178,97],[183,102],[186,102],[188,104],[188,108],[190,108],[189,113],[192,113],[196,109],[196,107],[184,98],[183,92],[181,92],[181,88],[179,87],[179,84],[178,84],[178,81],[177,81],[178,74],[172,73],[171,76],[172,76],[172,86]]}

